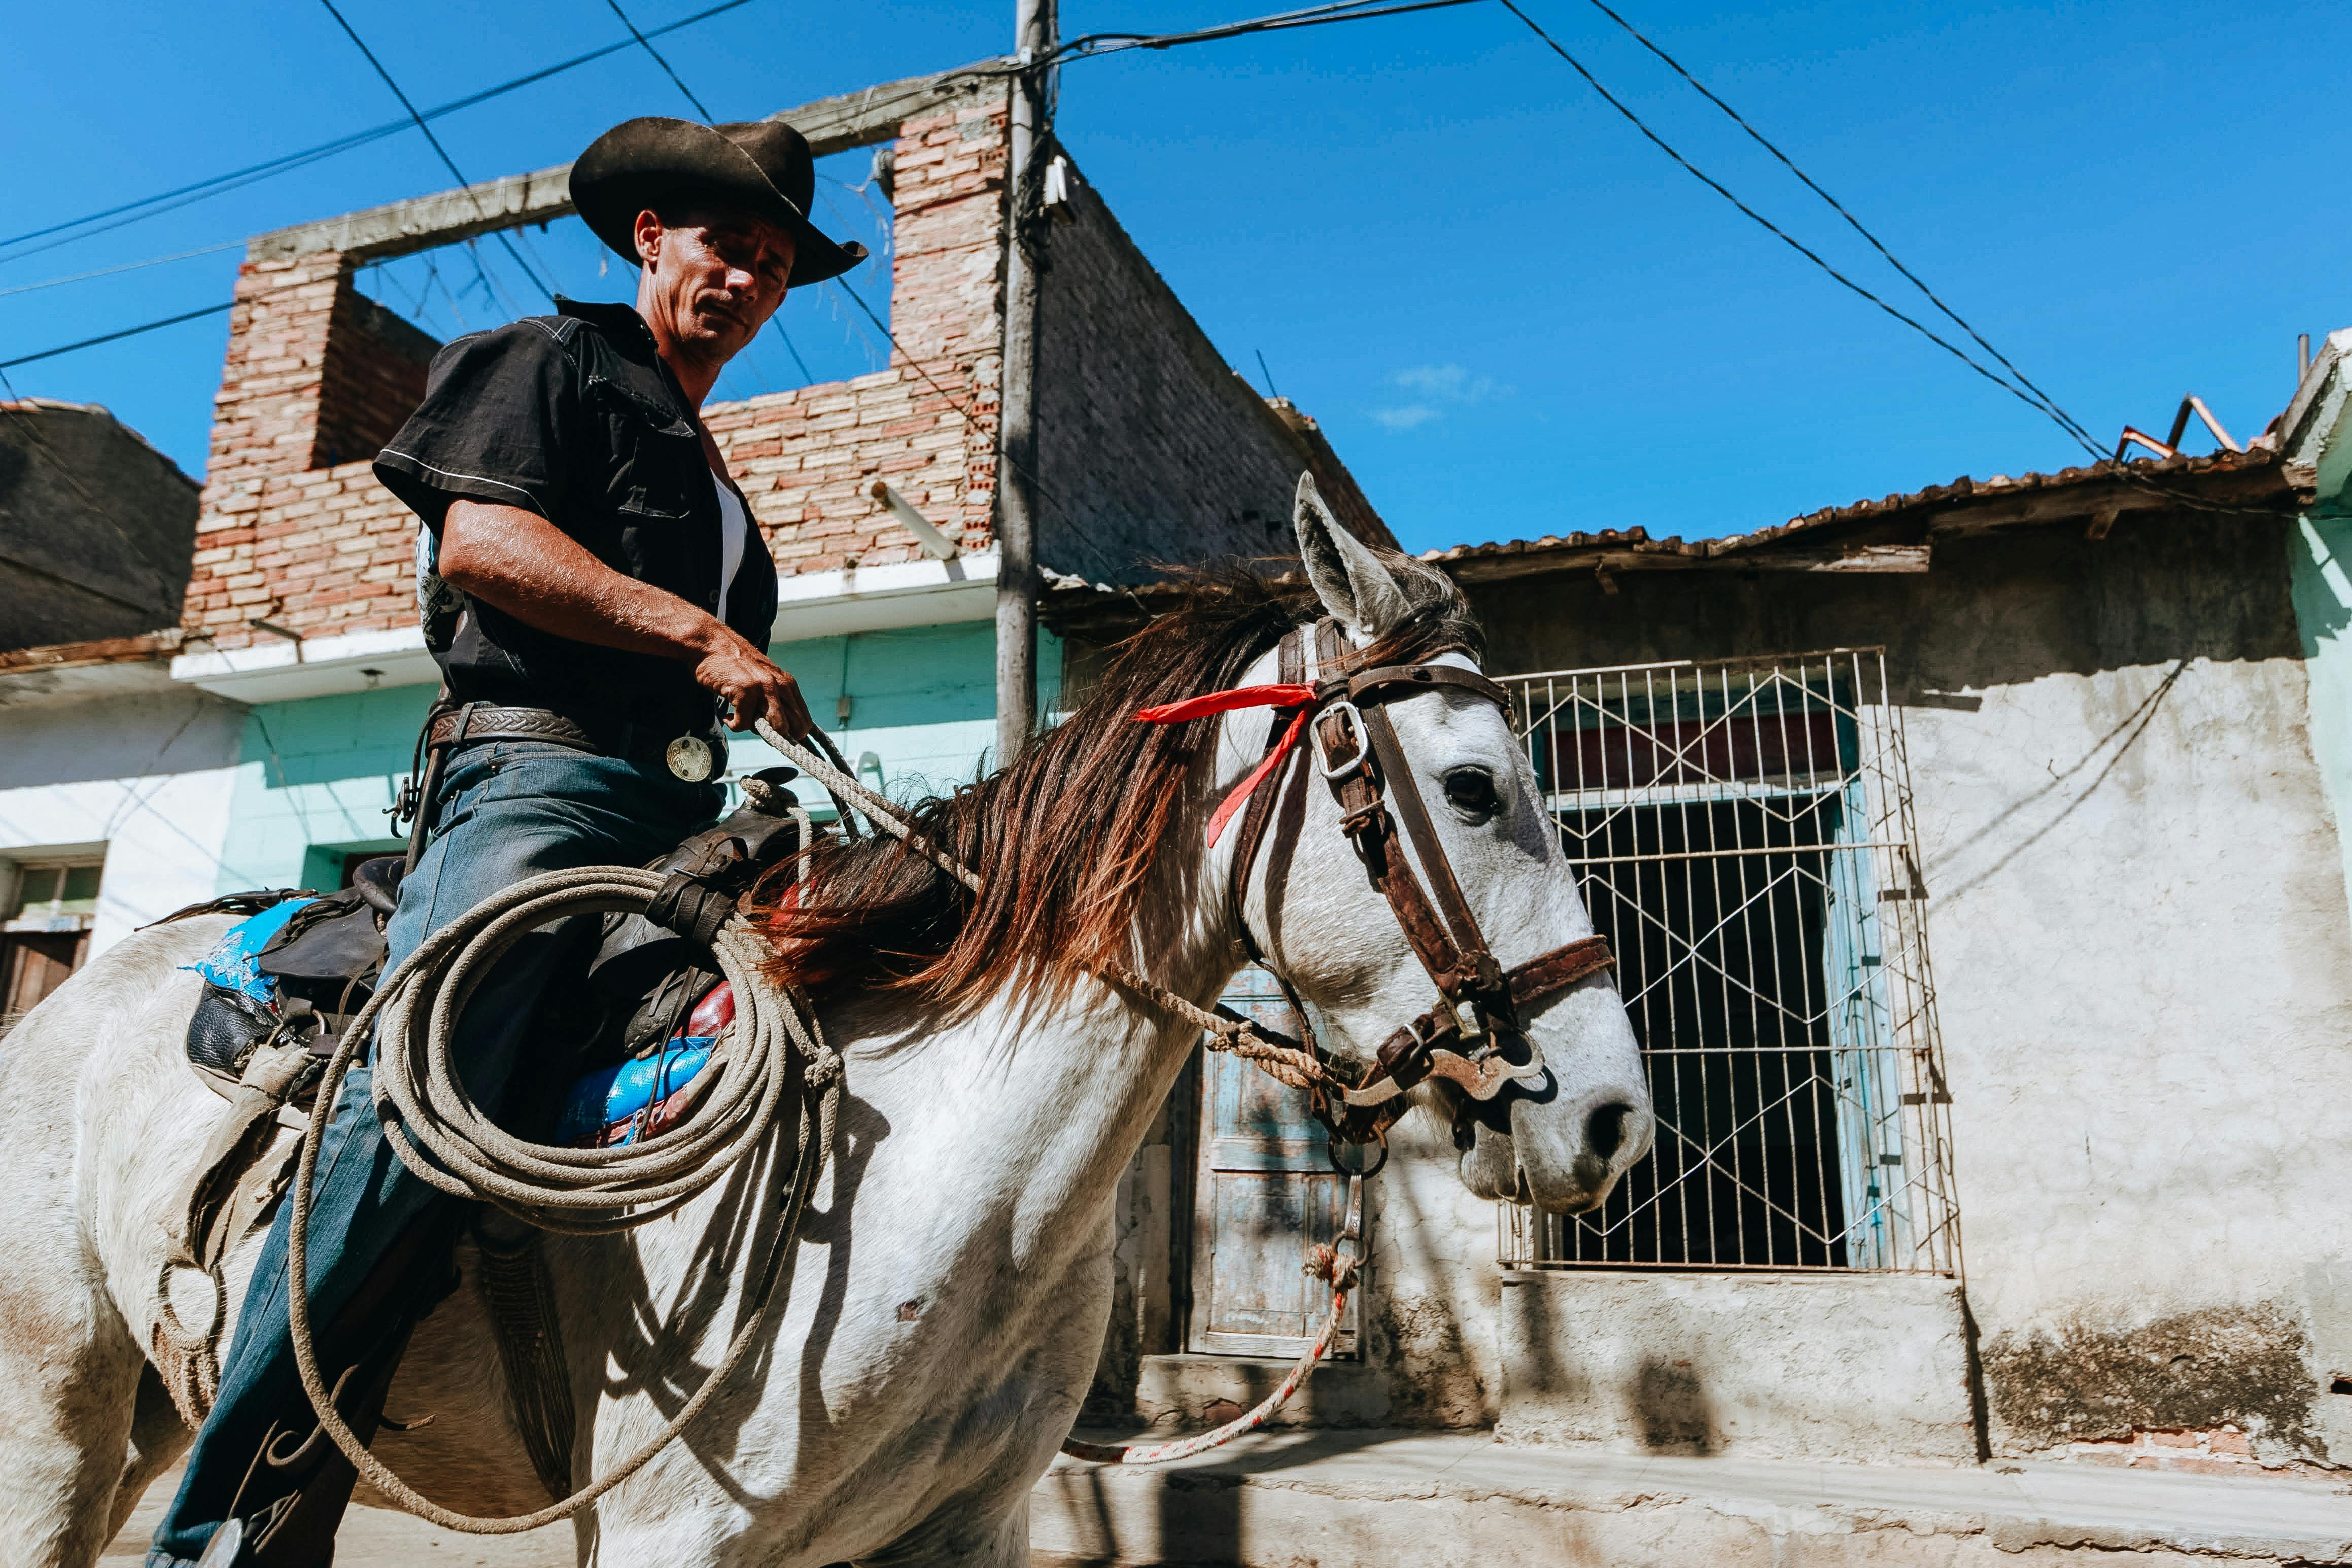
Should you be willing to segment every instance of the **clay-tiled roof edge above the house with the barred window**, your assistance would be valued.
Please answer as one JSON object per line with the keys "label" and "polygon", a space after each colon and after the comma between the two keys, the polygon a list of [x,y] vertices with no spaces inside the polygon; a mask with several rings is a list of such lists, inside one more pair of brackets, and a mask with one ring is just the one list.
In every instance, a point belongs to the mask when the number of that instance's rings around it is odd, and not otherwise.
{"label": "clay-tiled roof edge above the house with the barred window", "polygon": [[[2310,489],[2310,470],[2293,468],[2277,451],[2216,451],[2213,456],[2147,458],[2136,463],[2091,463],[2058,473],[1992,475],[1990,480],[1952,480],[1879,501],[1825,505],[1804,517],[1750,534],[1722,538],[1651,538],[1646,529],[1599,529],[1595,534],[1545,534],[1482,545],[1425,550],[1421,559],[1454,567],[1463,562],[1515,564],[1512,557],[1651,557],[1651,564],[1703,564],[1719,557],[1769,550],[1785,541],[1830,543],[1844,534],[1917,534],[1926,527],[2042,522],[2063,515],[2091,517],[2105,508],[2164,510],[2169,496],[2187,505],[2230,503],[2279,510]],[[2067,494],[2053,494],[2067,491]],[[2218,491],[2218,494],[2216,494]],[[1886,524],[1922,524],[1919,529]],[[1668,559],[1658,559],[1668,557]],[[1524,562],[1534,569],[1538,562]]]}

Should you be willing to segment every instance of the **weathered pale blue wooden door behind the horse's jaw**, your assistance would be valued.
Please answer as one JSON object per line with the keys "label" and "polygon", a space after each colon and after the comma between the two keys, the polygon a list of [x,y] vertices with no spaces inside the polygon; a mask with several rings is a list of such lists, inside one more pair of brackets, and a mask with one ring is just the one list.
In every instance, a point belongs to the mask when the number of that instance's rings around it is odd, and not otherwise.
{"label": "weathered pale blue wooden door behind the horse's jaw", "polygon": [[[1240,973],[1225,1004],[1298,1034],[1282,990],[1256,966]],[[1312,1246],[1338,1239],[1348,1187],[1331,1171],[1303,1088],[1218,1051],[1202,1056],[1190,1349],[1296,1356],[1331,1309],[1329,1288],[1305,1262]],[[1355,1352],[1359,1302],[1362,1291],[1348,1300],[1336,1354]]]}

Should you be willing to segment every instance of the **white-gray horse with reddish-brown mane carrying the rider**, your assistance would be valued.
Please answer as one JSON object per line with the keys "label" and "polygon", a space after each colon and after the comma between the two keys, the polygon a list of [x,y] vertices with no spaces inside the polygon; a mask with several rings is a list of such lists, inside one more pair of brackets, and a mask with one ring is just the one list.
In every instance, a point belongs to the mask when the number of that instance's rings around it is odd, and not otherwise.
{"label": "white-gray horse with reddish-brown mane carrying the rider", "polygon": [[[1359,649],[1416,618],[1465,614],[1437,571],[1364,548],[1315,508],[1301,508],[1298,527],[1319,611]],[[1138,644],[1164,649],[1185,635],[1235,639],[1211,649],[1240,675],[1230,684],[1275,679],[1263,625],[1192,625],[1178,614]],[[1164,679],[1152,689],[1150,646],[1127,668],[1122,701],[1096,698],[1009,776],[971,792],[983,818],[1021,792],[1007,778],[1035,785],[1098,759],[1129,726],[1124,698],[1195,696]],[[1390,788],[1418,788],[1432,804],[1496,957],[1510,966],[1588,936],[1505,717],[1444,689],[1390,712],[1414,771]],[[978,865],[1087,853],[1136,867],[1117,907],[1131,966],[1214,999],[1242,954],[1225,896],[1237,835],[1207,846],[1204,825],[1261,759],[1265,715],[1225,715],[1214,733],[1214,745],[1178,750],[1167,778],[1141,780],[1174,799],[1155,842],[1120,842],[1134,835],[1134,813],[1094,799],[1131,792],[1073,790],[1051,806],[1075,830],[1021,839],[1004,820],[1007,837],[981,835]],[[1275,827],[1289,849],[1279,877],[1268,877],[1277,856],[1261,856],[1237,903],[1268,964],[1317,1011],[1327,1044],[1367,1060],[1430,1006],[1430,980],[1345,851],[1329,792],[1296,799],[1303,816],[1289,811]],[[9,1568],[92,1563],[191,1441],[151,1347],[167,1213],[221,1110],[181,1060],[200,992],[183,966],[226,926],[226,917],[186,919],[120,943],[0,1046],[9,1107],[0,1561]],[[590,1554],[680,1568],[1028,1561],[1030,1486],[1070,1432],[1103,1342],[1117,1180],[1197,1034],[1087,973],[1023,987],[1018,969],[1009,961],[1009,973],[953,1006],[889,987],[844,990],[826,1006],[847,1060],[842,1135],[790,1295],[684,1439],[574,1521],[583,1563]],[[1649,1147],[1639,1053],[1606,973],[1531,1009],[1526,1027],[1552,1084],[1510,1100],[1508,1133],[1479,1126],[1461,1178],[1479,1197],[1585,1211]],[[1432,1093],[1446,1091],[1416,1091],[1425,1103]],[[579,1410],[574,1483],[659,1432],[722,1354],[774,1246],[779,1175],[769,1150],[675,1215],[621,1237],[548,1239]],[[259,1232],[235,1248],[230,1302],[256,1251]],[[395,1415],[435,1420],[381,1434],[376,1453],[449,1507],[532,1512],[548,1497],[508,1415],[470,1251],[459,1262],[461,1286],[419,1328],[390,1394]],[[202,1321],[205,1302],[179,1309]]]}

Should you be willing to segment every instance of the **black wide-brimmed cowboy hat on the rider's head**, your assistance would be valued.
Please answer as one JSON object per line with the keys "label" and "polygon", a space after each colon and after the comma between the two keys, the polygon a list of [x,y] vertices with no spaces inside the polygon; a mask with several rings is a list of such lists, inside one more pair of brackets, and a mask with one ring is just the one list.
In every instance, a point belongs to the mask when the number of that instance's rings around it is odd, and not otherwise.
{"label": "black wide-brimmed cowboy hat on the rider's head", "polygon": [[823,282],[866,259],[856,240],[837,242],[809,223],[816,162],[809,141],[783,120],[696,125],[644,115],[612,127],[572,165],[572,205],[630,266],[637,214],[663,202],[708,200],[767,219],[793,235],[793,287]]}

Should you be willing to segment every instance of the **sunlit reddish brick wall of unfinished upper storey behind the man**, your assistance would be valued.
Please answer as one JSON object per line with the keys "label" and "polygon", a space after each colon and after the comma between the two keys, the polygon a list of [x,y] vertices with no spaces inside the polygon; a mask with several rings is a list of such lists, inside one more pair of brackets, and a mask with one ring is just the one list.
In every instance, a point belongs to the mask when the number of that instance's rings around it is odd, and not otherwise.
{"label": "sunlit reddish brick wall of unfinished upper storey behind the man", "polygon": [[[964,550],[990,538],[1002,371],[1002,94],[901,127],[891,329],[915,362],[703,416],[779,571],[920,550],[875,477]],[[854,284],[851,284],[854,287]],[[788,301],[809,310],[814,301]],[[423,397],[433,339],[350,287],[334,254],[247,263],[214,400],[183,625],[247,646],[414,625],[416,522],[369,461]]]}

